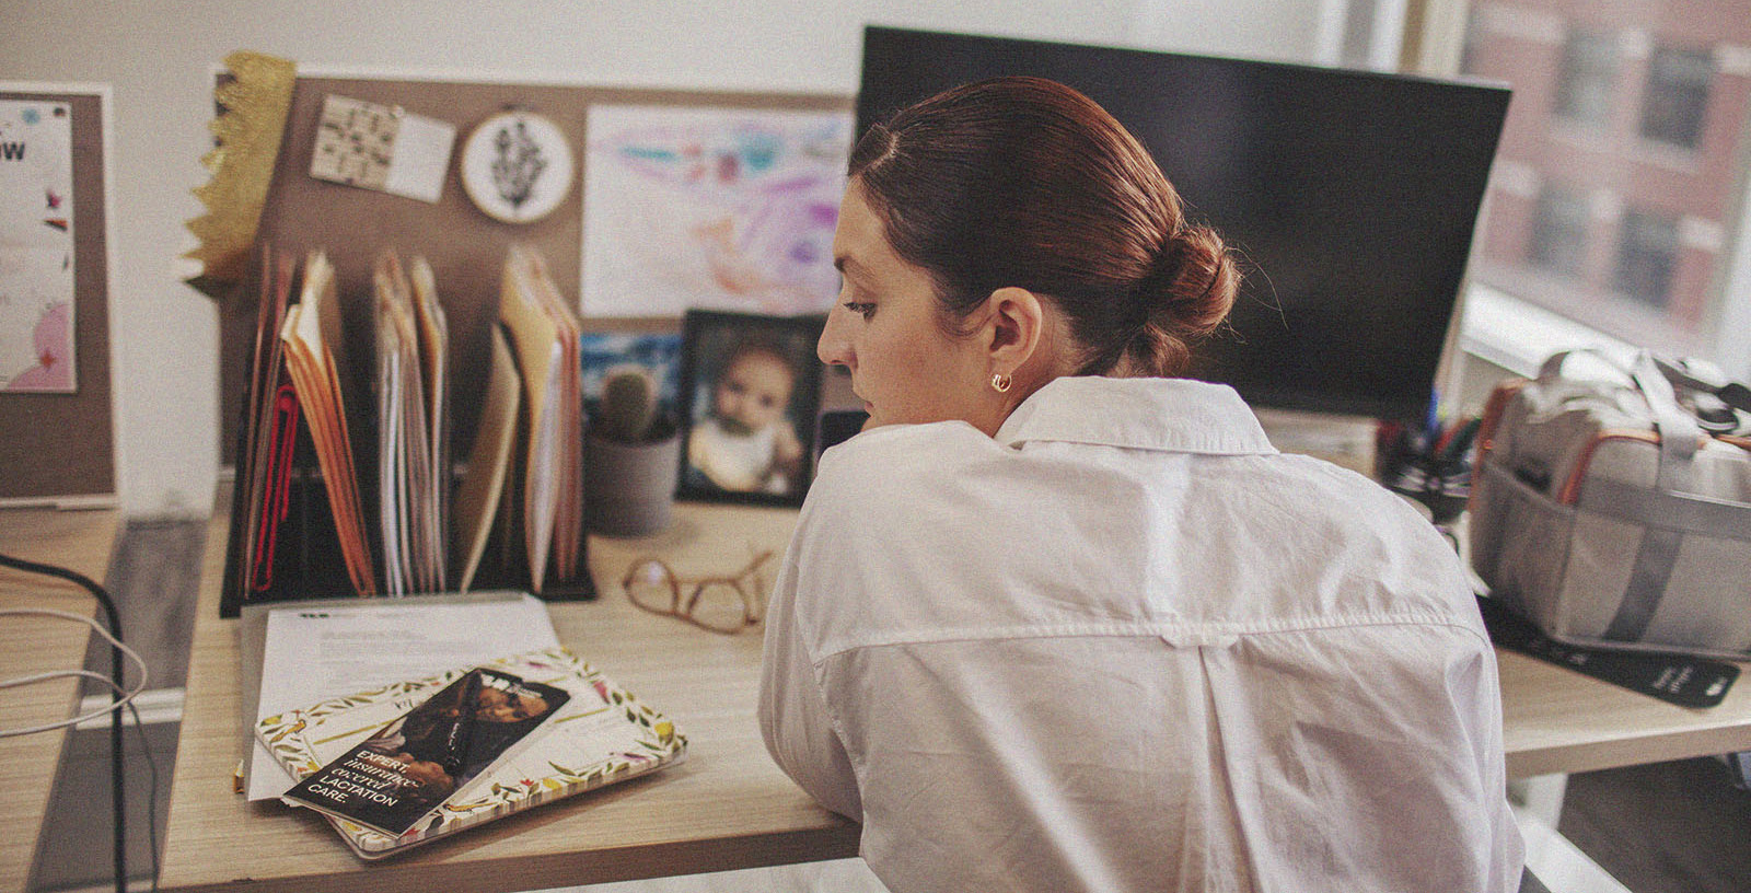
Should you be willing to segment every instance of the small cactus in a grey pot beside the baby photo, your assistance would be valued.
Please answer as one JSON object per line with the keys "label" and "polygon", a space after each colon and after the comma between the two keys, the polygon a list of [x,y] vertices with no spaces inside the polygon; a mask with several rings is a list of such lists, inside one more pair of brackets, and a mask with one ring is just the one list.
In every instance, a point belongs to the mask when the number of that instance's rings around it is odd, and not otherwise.
{"label": "small cactus in a grey pot beside the baby photo", "polygon": [[583,445],[583,517],[592,532],[644,536],[669,527],[681,468],[678,432],[650,371],[608,371]]}

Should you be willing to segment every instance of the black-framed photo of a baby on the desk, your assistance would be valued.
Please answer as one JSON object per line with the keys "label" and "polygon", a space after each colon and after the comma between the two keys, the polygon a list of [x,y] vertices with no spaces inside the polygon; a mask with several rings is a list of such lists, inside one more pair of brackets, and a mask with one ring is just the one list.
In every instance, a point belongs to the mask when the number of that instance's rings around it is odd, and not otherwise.
{"label": "black-framed photo of a baby on the desk", "polygon": [[798,506],[821,403],[819,317],[681,317],[681,499]]}

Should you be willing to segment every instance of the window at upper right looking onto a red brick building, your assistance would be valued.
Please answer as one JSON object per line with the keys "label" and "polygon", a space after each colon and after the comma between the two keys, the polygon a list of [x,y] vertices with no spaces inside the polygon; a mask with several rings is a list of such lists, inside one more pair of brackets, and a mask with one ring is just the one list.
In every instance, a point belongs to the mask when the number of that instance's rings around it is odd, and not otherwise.
{"label": "window at upper right looking onto a red brick building", "polygon": [[1751,0],[1473,0],[1443,28],[1515,89],[1471,282],[1751,376]]}

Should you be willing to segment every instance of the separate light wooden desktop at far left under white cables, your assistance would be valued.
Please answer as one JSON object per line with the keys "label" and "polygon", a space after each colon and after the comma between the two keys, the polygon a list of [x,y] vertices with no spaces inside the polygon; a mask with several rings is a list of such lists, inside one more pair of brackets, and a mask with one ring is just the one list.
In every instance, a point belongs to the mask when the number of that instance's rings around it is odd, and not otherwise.
{"label": "separate light wooden desktop at far left under white cables", "polygon": [[[114,541],[114,511],[0,510],[0,552],[16,559],[56,564],[91,580],[103,580]],[[0,567],[0,608],[53,608],[81,616],[96,615],[96,602],[84,588],[11,567]],[[0,620],[0,679],[82,667],[89,634],[91,627],[54,616]],[[9,688],[0,699],[0,728],[65,720],[74,714],[77,702],[75,678]],[[4,891],[25,889],[65,737],[67,730],[0,737],[0,816],[9,823],[7,833],[0,833]]]}

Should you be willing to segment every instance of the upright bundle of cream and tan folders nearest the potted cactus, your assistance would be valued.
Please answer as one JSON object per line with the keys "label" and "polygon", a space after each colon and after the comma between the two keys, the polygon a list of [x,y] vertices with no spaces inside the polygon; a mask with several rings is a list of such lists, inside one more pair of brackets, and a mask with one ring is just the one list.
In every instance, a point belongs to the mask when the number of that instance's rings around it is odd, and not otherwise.
{"label": "upright bundle of cream and tan folders nearest the potted cactus", "polygon": [[524,541],[529,585],[541,592],[548,562],[559,580],[580,573],[583,543],[583,369],[578,317],[560,299],[534,249],[504,259],[499,319],[524,376]]}

